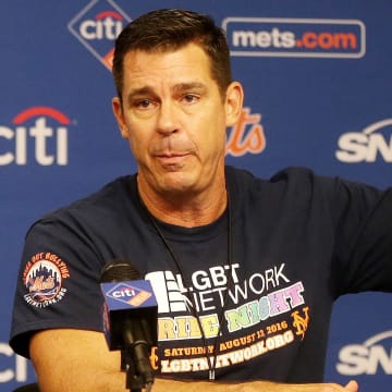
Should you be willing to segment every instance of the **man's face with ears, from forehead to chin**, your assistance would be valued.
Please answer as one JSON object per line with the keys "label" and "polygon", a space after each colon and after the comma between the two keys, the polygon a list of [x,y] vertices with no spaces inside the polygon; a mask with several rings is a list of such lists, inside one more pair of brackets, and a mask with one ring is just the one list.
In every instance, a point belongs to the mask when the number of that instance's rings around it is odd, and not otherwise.
{"label": "man's face with ears, from forehead to chin", "polygon": [[210,63],[189,44],[124,58],[122,107],[113,110],[138,163],[138,182],[155,193],[198,193],[224,175],[226,126],[237,120],[241,85],[220,95]]}

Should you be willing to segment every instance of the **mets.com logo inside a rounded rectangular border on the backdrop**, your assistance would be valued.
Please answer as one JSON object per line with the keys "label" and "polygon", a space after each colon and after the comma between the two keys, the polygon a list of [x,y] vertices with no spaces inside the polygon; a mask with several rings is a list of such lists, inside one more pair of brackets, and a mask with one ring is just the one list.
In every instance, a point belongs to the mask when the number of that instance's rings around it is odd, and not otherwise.
{"label": "mets.com logo inside a rounded rectangular border on the backdrop", "polygon": [[357,20],[226,17],[232,56],[359,59],[366,28]]}

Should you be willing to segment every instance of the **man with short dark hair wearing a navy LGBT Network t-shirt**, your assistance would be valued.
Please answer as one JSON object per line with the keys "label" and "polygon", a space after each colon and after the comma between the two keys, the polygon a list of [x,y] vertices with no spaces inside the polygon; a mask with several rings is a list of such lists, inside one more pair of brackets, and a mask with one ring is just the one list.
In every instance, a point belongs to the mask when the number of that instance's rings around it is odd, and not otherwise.
{"label": "man with short dark hair wearing a navy LGBT Network t-shirt", "polygon": [[131,260],[159,303],[155,391],[358,391],[321,383],[333,301],[392,287],[392,192],[224,166],[238,119],[222,32],[159,10],[117,40],[112,101],[137,174],[29,230],[10,344],[42,391],[120,391],[99,278]]}

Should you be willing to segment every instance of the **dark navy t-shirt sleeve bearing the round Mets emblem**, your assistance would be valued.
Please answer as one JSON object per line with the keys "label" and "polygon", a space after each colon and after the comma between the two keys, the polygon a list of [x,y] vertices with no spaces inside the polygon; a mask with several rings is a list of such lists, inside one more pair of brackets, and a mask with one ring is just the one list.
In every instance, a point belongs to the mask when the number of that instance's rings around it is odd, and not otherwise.
{"label": "dark navy t-shirt sleeve bearing the round Mets emblem", "polygon": [[36,223],[26,235],[17,277],[12,348],[29,357],[29,339],[42,329],[101,331],[101,266],[94,241],[77,223]]}

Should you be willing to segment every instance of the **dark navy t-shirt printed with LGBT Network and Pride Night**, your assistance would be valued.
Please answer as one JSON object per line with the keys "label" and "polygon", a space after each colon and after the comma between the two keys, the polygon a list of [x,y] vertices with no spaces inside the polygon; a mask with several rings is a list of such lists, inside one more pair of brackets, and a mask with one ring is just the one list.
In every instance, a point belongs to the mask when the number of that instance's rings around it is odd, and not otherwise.
{"label": "dark navy t-shirt printed with LGBT Network and Pride Night", "polygon": [[265,181],[228,167],[226,186],[231,211],[198,228],[157,230],[136,175],[40,219],[25,241],[11,346],[28,356],[35,331],[101,331],[100,272],[122,259],[152,284],[161,375],[206,379],[216,360],[220,380],[321,381],[334,299],[392,290],[392,192],[305,169]]}

